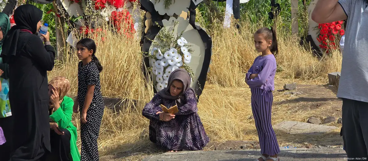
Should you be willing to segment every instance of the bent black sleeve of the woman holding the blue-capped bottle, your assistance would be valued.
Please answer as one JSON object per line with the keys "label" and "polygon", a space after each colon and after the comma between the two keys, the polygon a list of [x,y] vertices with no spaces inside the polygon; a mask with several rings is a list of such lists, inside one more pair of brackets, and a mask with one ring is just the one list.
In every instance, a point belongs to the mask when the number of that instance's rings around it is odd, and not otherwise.
{"label": "bent black sleeve of the woman holding the blue-capped bottle", "polygon": [[40,67],[47,71],[54,68],[55,50],[51,45],[44,46],[38,36],[32,36],[28,40],[31,57]]}

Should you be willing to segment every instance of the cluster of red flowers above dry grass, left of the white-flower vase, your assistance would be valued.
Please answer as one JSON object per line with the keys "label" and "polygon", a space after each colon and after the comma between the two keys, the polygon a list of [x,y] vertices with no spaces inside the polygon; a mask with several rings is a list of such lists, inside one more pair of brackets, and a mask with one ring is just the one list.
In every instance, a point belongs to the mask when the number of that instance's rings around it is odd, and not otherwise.
{"label": "cluster of red flowers above dry grass, left of the white-flower vase", "polygon": [[113,11],[110,19],[117,32],[124,33],[128,37],[131,37],[132,33],[135,33],[133,19],[128,10]]}

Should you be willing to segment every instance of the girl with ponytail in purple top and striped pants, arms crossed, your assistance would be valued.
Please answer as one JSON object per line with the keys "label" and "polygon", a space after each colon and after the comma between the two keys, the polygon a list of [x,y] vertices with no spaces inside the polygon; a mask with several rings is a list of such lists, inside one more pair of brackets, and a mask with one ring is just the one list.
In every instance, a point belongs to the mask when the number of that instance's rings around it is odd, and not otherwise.
{"label": "girl with ponytail in purple top and striped pants, arms crossed", "polygon": [[248,70],[245,83],[251,88],[251,105],[258,131],[261,157],[255,161],[279,161],[280,153],[275,131],[271,124],[272,91],[275,90],[276,59],[278,53],[276,33],[273,28],[261,28],[254,33],[254,45],[261,56],[255,58]]}

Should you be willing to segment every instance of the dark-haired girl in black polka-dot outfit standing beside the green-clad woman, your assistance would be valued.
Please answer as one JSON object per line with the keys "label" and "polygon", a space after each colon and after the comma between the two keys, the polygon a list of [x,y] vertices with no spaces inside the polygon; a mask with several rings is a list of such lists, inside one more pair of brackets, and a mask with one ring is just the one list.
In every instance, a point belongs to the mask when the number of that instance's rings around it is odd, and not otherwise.
{"label": "dark-haired girl in black polka-dot outfit standing beside the green-clad woman", "polygon": [[81,114],[81,161],[98,161],[97,139],[104,110],[100,92],[100,72],[102,65],[95,56],[96,44],[92,39],[82,39],[77,43],[78,99],[73,111]]}

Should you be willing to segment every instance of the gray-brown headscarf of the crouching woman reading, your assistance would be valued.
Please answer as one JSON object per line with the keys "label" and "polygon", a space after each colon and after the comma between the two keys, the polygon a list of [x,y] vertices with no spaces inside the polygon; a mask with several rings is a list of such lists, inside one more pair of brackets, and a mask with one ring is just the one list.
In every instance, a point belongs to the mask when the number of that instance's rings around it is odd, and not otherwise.
{"label": "gray-brown headscarf of the crouching woman reading", "polygon": [[[171,87],[172,83],[175,80],[183,82],[183,91],[180,94],[178,94],[177,96],[171,96],[170,87]],[[175,71],[171,72],[171,74],[169,76],[169,80],[167,82],[167,87],[160,90],[157,94],[160,95],[161,97],[163,97],[164,99],[176,100],[176,101],[173,101],[173,103],[171,103],[171,107],[174,106],[174,105],[177,105],[178,107],[181,107],[182,106],[181,98],[182,98],[183,94],[185,92],[187,92],[187,90],[192,90],[193,93],[195,93],[194,89],[192,89],[189,86],[190,86],[190,74],[185,69],[178,68]]]}

